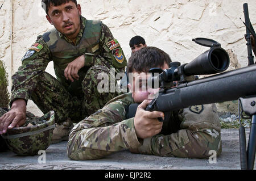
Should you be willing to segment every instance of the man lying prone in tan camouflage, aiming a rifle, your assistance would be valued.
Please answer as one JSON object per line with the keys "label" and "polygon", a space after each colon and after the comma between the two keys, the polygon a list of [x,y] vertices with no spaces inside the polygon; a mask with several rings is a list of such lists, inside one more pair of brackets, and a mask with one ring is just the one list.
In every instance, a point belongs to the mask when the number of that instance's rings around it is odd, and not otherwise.
{"label": "man lying prone in tan camouflage, aiming a rifle", "polygon": [[[158,117],[167,116],[163,112],[145,110],[159,89],[147,86],[143,89],[143,79],[150,76],[147,74],[150,68],[168,69],[170,61],[166,53],[154,47],[134,52],[127,66],[127,72],[133,73],[133,82],[129,81],[131,92],[110,100],[101,110],[75,125],[69,134],[68,157],[99,159],[123,149],[188,158],[209,158],[214,151],[220,155],[221,128],[215,104],[173,111],[167,123],[158,121]],[[141,104],[135,116],[129,116],[134,103]]]}

